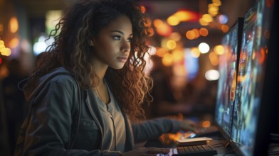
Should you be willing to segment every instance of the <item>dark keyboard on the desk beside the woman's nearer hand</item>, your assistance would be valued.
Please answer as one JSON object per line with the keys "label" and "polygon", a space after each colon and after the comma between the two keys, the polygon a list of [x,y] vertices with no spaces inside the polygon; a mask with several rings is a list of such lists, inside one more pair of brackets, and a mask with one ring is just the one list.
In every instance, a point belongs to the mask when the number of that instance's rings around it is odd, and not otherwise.
{"label": "dark keyboard on the desk beside the woman's nearer hand", "polygon": [[184,146],[184,147],[176,147],[170,148],[169,153],[165,154],[157,154],[157,156],[209,156],[209,155],[217,155],[217,151],[214,150],[210,145],[194,145],[194,146]]}

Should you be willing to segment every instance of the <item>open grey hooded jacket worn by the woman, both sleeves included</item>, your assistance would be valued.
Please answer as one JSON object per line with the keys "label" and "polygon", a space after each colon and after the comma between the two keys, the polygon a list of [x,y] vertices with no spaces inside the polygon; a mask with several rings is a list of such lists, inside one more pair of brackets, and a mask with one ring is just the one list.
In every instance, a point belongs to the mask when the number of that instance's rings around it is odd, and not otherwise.
{"label": "open grey hooded jacket worn by the woman, both sleeves included", "polygon": [[[90,90],[81,90],[64,67],[42,77],[26,99],[31,101],[31,109],[21,127],[15,155],[120,155],[119,151],[103,151],[105,134],[96,99]],[[123,116],[125,151],[137,142],[179,130],[179,122],[168,118],[130,123],[125,113]]]}

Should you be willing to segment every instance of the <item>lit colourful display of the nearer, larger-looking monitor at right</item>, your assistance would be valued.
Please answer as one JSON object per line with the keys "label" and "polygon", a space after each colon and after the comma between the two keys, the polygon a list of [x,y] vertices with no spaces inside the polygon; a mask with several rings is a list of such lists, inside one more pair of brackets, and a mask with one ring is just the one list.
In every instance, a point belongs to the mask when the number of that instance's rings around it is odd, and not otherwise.
{"label": "lit colourful display of the nearer, larger-looking monitor at right", "polygon": [[258,128],[272,13],[272,5],[266,2],[256,1],[244,18],[231,133],[244,155],[253,155]]}

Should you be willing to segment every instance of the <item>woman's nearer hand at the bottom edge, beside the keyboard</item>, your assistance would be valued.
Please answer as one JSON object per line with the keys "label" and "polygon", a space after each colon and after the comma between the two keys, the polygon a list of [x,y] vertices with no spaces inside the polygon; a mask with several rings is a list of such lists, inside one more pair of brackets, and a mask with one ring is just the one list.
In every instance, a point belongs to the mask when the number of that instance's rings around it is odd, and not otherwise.
{"label": "woman's nearer hand at the bottom edge, beside the keyboard", "polygon": [[122,156],[130,156],[130,155],[133,155],[133,156],[154,155],[154,156],[156,156],[159,153],[167,154],[167,153],[169,153],[169,149],[157,148],[157,147],[141,147],[141,148],[137,148],[135,150],[130,150],[128,152],[121,153],[120,155],[122,155]]}

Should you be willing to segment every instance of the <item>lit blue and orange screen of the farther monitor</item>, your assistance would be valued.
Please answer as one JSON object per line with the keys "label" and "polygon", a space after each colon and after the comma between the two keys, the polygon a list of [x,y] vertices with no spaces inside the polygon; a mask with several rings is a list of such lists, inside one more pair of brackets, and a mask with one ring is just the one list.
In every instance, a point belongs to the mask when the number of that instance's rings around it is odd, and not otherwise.
{"label": "lit blue and orange screen of the farther monitor", "polygon": [[228,137],[231,137],[233,122],[233,104],[242,30],[243,18],[238,18],[231,30],[223,36],[221,45],[223,45],[224,52],[219,56],[220,77],[216,97],[215,121]]}

